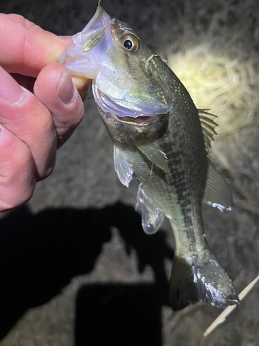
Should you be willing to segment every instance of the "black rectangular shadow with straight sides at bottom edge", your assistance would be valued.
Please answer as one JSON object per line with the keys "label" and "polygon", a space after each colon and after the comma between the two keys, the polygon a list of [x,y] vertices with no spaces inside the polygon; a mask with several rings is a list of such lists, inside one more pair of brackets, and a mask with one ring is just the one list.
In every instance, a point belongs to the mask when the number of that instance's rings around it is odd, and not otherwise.
{"label": "black rectangular shadow with straight sides at bottom edge", "polygon": [[75,346],[161,346],[161,304],[152,284],[93,284],[77,295]]}

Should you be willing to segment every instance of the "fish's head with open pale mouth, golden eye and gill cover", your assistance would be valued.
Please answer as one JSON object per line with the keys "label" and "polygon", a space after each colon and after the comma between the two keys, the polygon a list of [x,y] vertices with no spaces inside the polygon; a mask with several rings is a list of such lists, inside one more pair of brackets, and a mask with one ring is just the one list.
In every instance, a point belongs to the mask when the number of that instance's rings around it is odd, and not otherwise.
{"label": "fish's head with open pale mouth, golden eye and gill cover", "polygon": [[168,66],[131,26],[112,19],[100,6],[59,62],[73,75],[93,80],[95,102],[104,113],[146,120],[172,107]]}

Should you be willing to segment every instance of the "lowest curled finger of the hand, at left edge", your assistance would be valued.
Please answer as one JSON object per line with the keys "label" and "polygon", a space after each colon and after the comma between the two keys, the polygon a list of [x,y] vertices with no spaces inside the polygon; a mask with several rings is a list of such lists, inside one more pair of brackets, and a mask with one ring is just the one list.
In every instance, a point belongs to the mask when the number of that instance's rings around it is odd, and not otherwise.
{"label": "lowest curled finger of the hand, at left edge", "polygon": [[26,203],[32,197],[35,183],[27,145],[0,125],[0,212]]}

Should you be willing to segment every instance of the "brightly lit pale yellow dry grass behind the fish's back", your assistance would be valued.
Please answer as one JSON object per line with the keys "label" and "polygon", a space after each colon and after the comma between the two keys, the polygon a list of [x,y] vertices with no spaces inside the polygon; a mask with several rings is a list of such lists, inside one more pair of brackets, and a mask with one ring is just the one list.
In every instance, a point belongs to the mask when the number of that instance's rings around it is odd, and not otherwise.
{"label": "brightly lit pale yellow dry grass behind the fish's back", "polygon": [[[258,204],[238,178],[235,160],[229,161],[229,152],[247,153],[258,140],[259,129],[259,75],[258,62],[246,59],[235,46],[225,42],[220,46],[217,39],[212,42],[186,42],[178,53],[167,55],[168,64],[191,94],[198,108],[209,108],[218,116],[213,143],[213,155],[228,170],[242,199],[235,203],[241,208],[256,212]],[[222,41],[222,39],[220,39]],[[229,145],[229,148],[227,147]],[[235,162],[233,162],[235,161]],[[256,164],[256,162],[255,162]],[[256,164],[257,166],[257,164]],[[239,167],[242,171],[242,168]],[[240,172],[239,172],[240,173]]]}

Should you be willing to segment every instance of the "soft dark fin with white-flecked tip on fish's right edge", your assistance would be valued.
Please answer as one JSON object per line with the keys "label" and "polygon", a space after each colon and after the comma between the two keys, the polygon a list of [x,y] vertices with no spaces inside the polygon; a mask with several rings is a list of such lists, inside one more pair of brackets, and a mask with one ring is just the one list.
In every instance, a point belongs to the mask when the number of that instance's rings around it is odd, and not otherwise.
{"label": "soft dark fin with white-flecked tip on fish's right edge", "polygon": [[231,210],[231,192],[211,161],[209,161],[203,201],[220,211]]}

